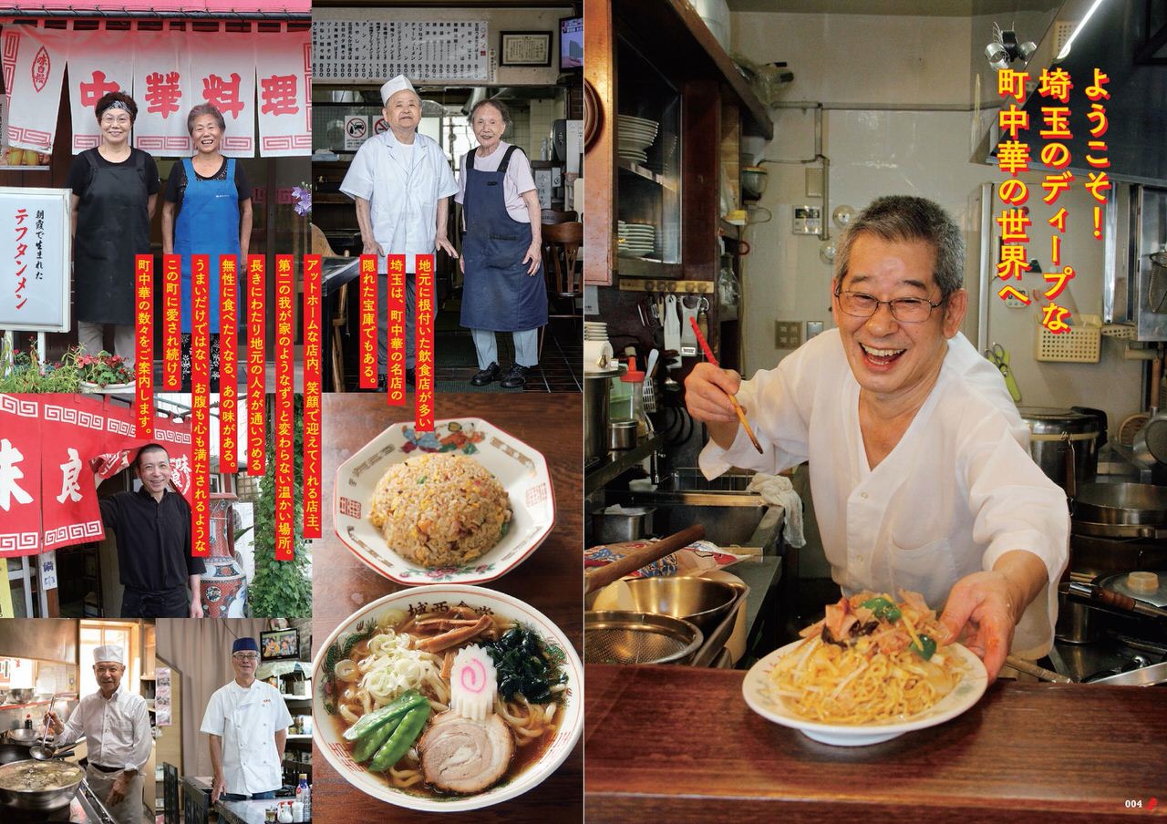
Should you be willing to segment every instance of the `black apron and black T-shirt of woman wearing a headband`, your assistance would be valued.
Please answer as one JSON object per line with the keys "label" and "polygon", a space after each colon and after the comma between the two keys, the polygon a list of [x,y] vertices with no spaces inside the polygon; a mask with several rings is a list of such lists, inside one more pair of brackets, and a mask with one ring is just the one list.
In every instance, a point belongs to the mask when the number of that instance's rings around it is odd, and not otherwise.
{"label": "black apron and black T-shirt of woman wearing a headband", "polygon": [[[77,203],[74,244],[74,316],[86,323],[134,323],[134,256],[149,254],[146,153],[131,149],[116,166],[100,166],[97,149],[78,162],[91,170]],[[84,161],[82,161],[82,158]]]}

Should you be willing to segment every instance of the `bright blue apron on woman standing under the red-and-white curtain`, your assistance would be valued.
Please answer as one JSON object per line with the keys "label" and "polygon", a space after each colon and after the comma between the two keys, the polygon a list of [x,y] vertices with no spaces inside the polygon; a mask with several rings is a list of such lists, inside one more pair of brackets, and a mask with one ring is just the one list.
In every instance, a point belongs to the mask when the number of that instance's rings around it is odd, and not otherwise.
{"label": "bright blue apron on woman standing under the red-and-white curtain", "polygon": [[[210,256],[210,334],[218,334],[218,258],[239,254],[239,190],[235,187],[235,158],[226,159],[226,180],[203,180],[190,158],[182,159],[187,190],[174,228],[174,253],[182,256],[182,330],[190,329],[190,256]],[[238,281],[237,281],[238,282]],[[238,293],[236,293],[238,310]]]}

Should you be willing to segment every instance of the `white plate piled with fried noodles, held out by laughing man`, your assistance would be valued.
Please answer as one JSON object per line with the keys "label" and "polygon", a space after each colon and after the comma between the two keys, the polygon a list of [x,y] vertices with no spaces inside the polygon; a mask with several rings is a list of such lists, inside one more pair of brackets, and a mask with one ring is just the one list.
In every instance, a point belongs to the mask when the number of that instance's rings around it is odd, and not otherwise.
{"label": "white plate piled with fried noodles, held out by laughing man", "polygon": [[973,706],[985,666],[917,593],[862,592],[826,607],[802,640],[759,661],[742,694],[756,713],[838,746],[887,741]]}

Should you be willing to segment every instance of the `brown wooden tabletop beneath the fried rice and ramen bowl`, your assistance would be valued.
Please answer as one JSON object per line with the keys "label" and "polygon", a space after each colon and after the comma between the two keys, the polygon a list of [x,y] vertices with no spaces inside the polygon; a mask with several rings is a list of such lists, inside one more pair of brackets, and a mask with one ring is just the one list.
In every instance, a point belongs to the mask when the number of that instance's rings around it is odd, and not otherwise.
{"label": "brown wooden tabletop beneath the fried rice and ramen bowl", "polygon": [[[551,536],[517,568],[484,586],[526,601],[554,621],[582,650],[584,607],[584,399],[579,393],[438,393],[436,419],[476,417],[515,435],[547,459],[555,493]],[[408,406],[386,406],[384,393],[324,393],[323,483],[321,500],[333,500],[336,467],[396,421],[413,420]],[[313,543],[313,636],[324,638],[349,615],[382,595],[403,589],[362,564],[336,537],[328,505],[324,537]],[[313,650],[315,652],[315,650]],[[582,656],[581,656],[582,657]],[[313,746],[313,813],[324,822],[432,822],[415,812],[371,798],[336,774]],[[331,810],[333,812],[327,812]],[[443,813],[442,822],[580,822],[584,817],[584,752],[578,743],[567,760],[531,791],[494,806]]]}

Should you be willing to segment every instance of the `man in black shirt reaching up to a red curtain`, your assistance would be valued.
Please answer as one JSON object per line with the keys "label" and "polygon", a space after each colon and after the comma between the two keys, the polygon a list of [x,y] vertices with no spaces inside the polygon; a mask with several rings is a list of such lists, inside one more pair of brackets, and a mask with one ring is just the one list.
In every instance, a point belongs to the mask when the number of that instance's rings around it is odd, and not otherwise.
{"label": "man in black shirt reaching up to a red curtain", "polygon": [[[169,489],[170,456],[160,444],[138,451],[142,487],[99,500],[102,521],[117,533],[125,592],[121,617],[202,617],[205,565],[190,554],[190,507]],[[187,603],[187,582],[191,600]]]}

